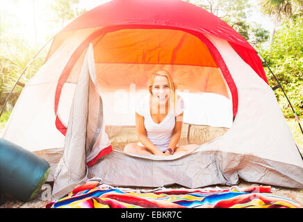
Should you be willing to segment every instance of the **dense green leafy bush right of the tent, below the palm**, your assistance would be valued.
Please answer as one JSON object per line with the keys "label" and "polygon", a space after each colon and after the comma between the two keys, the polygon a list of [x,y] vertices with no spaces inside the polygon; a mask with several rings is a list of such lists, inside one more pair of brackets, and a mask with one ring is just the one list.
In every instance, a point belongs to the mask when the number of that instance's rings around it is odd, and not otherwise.
{"label": "dense green leafy bush right of the tent, below the palm", "polygon": [[[290,99],[298,116],[303,115],[303,18],[286,22],[275,34],[275,39],[268,49],[261,50],[261,56],[277,76],[279,82]],[[268,80],[271,86],[277,85],[275,78],[268,69]],[[294,117],[290,105],[281,89],[275,94],[286,117]]]}

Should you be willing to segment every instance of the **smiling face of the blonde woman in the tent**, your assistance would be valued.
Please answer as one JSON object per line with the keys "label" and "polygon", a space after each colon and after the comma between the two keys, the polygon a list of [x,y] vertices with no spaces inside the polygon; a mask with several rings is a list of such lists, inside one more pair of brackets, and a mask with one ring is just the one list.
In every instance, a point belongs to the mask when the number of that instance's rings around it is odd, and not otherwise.
{"label": "smiling face of the blonde woman in the tent", "polygon": [[170,99],[170,83],[166,76],[155,75],[151,92],[158,103],[166,103]]}

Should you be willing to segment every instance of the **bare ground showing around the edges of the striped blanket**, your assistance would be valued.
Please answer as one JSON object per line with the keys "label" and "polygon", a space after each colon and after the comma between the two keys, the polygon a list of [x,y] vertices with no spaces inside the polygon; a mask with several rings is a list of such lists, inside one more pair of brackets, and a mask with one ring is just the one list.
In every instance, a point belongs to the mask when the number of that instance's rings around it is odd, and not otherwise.
{"label": "bare ground showing around the edges of the striped blanket", "polygon": [[[51,182],[48,182],[49,185],[51,185]],[[240,180],[240,183],[238,184],[238,187],[249,187],[252,185],[256,185],[256,184],[252,184],[243,180]],[[211,186],[213,187],[213,186]],[[227,188],[227,186],[215,186],[215,187],[220,187],[220,188]],[[147,187],[129,187],[131,189],[147,189]],[[179,185],[171,185],[169,187],[166,188],[174,188],[174,189],[178,189],[178,188],[182,188]],[[205,187],[203,187],[205,188]],[[49,203],[50,200],[43,200],[42,196],[45,196],[45,194],[43,194],[45,190],[42,189],[40,190],[40,192],[38,193],[38,195],[31,201],[28,201],[26,203],[16,200],[15,198],[13,198],[12,196],[8,196],[5,195],[5,200],[6,202],[3,204],[0,204],[0,208],[44,208],[47,203]],[[290,188],[285,188],[285,187],[272,187],[272,194],[277,194],[278,196],[283,196],[286,198],[290,198],[291,200],[295,200],[297,203],[300,203],[300,205],[302,205],[303,207],[303,189],[290,189]]]}

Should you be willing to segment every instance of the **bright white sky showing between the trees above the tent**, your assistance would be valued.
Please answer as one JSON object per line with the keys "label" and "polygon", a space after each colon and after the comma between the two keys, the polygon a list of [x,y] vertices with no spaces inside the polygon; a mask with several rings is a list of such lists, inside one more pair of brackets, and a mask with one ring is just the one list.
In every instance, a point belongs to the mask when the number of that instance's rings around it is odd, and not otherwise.
{"label": "bright white sky showing between the trees above the tent", "polygon": [[[33,22],[33,1],[35,2],[35,21]],[[80,0],[80,8],[90,10],[110,0]],[[165,1],[165,0],[163,0]],[[49,26],[49,5],[54,0],[0,0],[0,24],[9,26],[12,35],[21,35],[29,42],[38,41],[42,45],[47,38],[55,35],[61,26]],[[252,14],[248,17],[249,22],[261,24],[268,31],[272,30],[272,22],[259,11],[256,1],[249,0],[252,7]],[[35,30],[37,32],[35,32]],[[37,37],[35,37],[37,33]]]}

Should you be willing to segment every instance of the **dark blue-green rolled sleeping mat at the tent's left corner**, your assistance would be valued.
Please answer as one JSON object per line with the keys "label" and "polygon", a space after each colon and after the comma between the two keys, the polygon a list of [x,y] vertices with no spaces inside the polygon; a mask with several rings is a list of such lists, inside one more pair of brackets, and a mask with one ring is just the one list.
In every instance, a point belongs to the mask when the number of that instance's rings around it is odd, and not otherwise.
{"label": "dark blue-green rolled sleeping mat at the tent's left corner", "polygon": [[27,202],[38,194],[49,171],[42,157],[0,138],[0,191]]}

